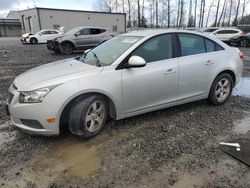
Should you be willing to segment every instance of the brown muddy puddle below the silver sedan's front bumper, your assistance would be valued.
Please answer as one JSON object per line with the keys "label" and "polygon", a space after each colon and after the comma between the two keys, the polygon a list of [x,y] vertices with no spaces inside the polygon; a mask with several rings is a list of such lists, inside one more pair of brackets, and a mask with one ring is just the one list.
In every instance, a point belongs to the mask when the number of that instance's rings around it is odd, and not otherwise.
{"label": "brown muddy puddle below the silver sedan's front bumper", "polygon": [[[60,178],[73,177],[84,180],[90,177],[101,165],[102,158],[96,146],[83,142],[64,142],[46,153],[40,159],[29,162],[16,178],[7,174],[4,186],[49,187]],[[1,184],[0,184],[1,185]]]}

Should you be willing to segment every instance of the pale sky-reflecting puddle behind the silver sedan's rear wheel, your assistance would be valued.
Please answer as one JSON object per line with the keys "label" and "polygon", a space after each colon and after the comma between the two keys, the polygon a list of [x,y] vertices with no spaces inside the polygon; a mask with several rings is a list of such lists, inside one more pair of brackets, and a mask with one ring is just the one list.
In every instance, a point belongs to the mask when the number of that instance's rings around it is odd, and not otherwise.
{"label": "pale sky-reflecting puddle behind the silver sedan's rear wheel", "polygon": [[250,97],[250,78],[241,78],[238,85],[233,90],[234,96]]}

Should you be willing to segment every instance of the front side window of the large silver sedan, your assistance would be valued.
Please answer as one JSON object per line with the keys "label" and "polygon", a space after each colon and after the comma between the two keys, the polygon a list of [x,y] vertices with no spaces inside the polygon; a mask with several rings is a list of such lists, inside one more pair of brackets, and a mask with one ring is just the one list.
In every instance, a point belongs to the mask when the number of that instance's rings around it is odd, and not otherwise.
{"label": "front side window of the large silver sedan", "polygon": [[142,57],[147,63],[173,58],[172,37],[170,34],[153,37],[132,52],[133,55]]}

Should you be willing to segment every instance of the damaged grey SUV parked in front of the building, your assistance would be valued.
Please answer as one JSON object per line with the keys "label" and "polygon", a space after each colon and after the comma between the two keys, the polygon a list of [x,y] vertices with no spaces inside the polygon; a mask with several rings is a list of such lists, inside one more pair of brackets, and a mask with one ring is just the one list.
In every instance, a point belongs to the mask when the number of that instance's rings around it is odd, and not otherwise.
{"label": "damaged grey SUV parked in front of the building", "polygon": [[75,27],[60,37],[47,41],[47,48],[56,53],[71,54],[74,50],[86,50],[111,39],[111,33],[101,27]]}

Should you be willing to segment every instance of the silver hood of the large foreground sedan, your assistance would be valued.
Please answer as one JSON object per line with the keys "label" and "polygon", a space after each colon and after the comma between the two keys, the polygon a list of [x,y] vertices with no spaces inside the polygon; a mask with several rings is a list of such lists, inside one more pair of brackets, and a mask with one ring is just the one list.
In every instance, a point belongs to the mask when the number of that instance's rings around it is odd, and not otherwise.
{"label": "silver hood of the large foreground sedan", "polygon": [[62,84],[88,74],[101,72],[103,67],[85,64],[74,58],[42,65],[19,75],[14,80],[18,91],[31,91]]}

